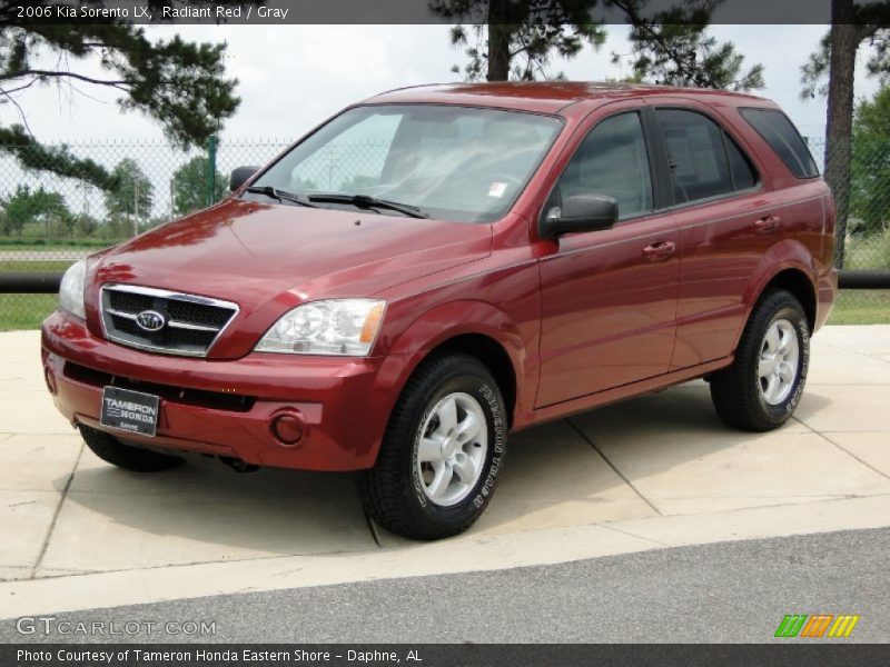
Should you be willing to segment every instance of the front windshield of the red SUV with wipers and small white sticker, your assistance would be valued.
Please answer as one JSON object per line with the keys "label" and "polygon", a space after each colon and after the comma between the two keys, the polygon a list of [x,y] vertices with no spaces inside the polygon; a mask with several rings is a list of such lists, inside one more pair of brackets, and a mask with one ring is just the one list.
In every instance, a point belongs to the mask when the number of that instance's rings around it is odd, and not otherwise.
{"label": "front windshield of the red SUV with wipers and small white sticker", "polygon": [[556,118],[518,111],[355,107],[295,146],[253,186],[317,198],[324,207],[402,215],[383,206],[389,202],[422,217],[486,222],[513,205],[561,128]]}

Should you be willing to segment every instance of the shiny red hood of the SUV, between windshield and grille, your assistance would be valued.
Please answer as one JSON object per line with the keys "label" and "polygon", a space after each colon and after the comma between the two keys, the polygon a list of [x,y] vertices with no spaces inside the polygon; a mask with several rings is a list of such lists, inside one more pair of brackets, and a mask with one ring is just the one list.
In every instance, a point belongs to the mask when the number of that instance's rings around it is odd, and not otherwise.
{"label": "shiny red hood of the SUV, between windshield and grille", "polygon": [[261,335],[303,301],[372,296],[491,251],[488,225],[229,199],[99,257],[89,301],[107,282],[216,297],[240,307],[229,329]]}

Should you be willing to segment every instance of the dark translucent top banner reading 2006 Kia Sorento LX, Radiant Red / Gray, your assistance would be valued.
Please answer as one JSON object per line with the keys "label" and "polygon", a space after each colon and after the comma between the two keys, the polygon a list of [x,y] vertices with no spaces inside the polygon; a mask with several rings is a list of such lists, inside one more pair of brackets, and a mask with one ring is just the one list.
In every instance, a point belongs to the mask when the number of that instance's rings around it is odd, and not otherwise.
{"label": "dark translucent top banner reading 2006 Kia Sorento LX, Radiant Red / Gray", "polygon": [[[582,0],[583,1],[583,0]],[[0,22],[136,24],[422,24],[511,23],[512,4],[527,4],[540,23],[558,21],[553,0],[0,0]],[[571,2],[575,8],[577,0]],[[554,8],[554,6],[556,6]],[[834,13],[832,13],[834,7]],[[587,0],[591,23],[890,26],[890,1],[880,0]]]}

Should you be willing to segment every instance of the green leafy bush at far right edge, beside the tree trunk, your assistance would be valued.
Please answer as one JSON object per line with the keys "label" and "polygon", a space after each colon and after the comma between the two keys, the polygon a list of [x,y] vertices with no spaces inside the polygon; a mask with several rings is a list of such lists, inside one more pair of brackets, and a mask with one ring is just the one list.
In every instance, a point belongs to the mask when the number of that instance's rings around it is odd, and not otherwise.
{"label": "green leafy bush at far right edge, beside the tree trunk", "polygon": [[[890,229],[890,87],[857,106],[852,147],[851,231]],[[887,259],[890,261],[890,248]]]}

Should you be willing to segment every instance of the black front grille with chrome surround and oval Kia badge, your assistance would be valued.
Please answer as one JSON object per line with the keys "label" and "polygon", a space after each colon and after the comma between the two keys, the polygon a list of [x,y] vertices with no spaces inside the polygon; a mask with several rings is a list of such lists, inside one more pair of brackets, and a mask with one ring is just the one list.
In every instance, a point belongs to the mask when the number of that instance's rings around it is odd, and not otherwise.
{"label": "black front grille with chrome surround and oval Kia badge", "polygon": [[[103,286],[101,307],[109,340],[187,357],[205,357],[238,313],[238,306],[229,301],[132,285]],[[146,312],[160,316],[157,330],[139,323],[139,315]]]}

